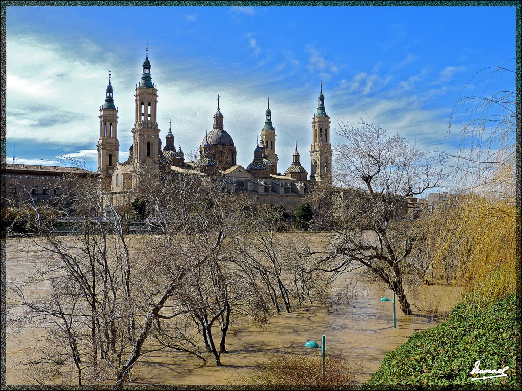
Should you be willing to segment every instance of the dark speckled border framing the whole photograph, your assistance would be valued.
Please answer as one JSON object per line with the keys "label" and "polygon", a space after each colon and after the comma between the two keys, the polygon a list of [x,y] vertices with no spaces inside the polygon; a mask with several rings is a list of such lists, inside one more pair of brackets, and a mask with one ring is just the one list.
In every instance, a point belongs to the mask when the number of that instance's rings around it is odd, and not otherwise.
{"label": "dark speckled border framing the whole photograph", "polygon": [[[1,46],[0,54],[2,56],[1,63],[1,79],[0,86],[2,95],[0,99],[0,108],[2,115],[0,117],[0,168],[5,169],[6,164],[6,7],[9,6],[516,6],[516,230],[517,230],[517,292],[518,292],[518,324],[522,324],[522,304],[520,302],[522,298],[520,287],[522,286],[522,76],[521,76],[521,44],[522,44],[522,1],[5,1],[2,2],[2,8],[0,10],[0,16],[2,24],[0,26],[1,32]],[[502,39],[502,37],[500,37]],[[0,177],[0,201],[5,200],[5,179]],[[37,386],[15,386],[6,385],[6,238],[5,232],[0,233],[0,387],[6,390],[38,390],[42,389]],[[519,330],[520,333],[520,330]],[[521,370],[522,370],[522,354],[520,352],[520,338],[518,338],[518,357],[517,357],[517,378],[521,382]],[[520,384],[519,384],[520,385]],[[111,389],[111,387],[48,387],[46,389],[56,390],[98,390],[98,389]],[[336,389],[354,389],[355,387],[343,387]],[[447,387],[446,387],[447,388]],[[126,389],[134,390],[262,390],[263,387],[254,386],[132,386],[126,387]],[[274,389],[274,388],[272,388]],[[316,389],[310,387],[280,387],[278,389]],[[334,389],[334,388],[329,388]],[[361,385],[357,389],[374,389],[372,387]],[[382,387],[379,387],[382,389]],[[390,387],[390,389],[399,389],[399,387]],[[417,387],[401,387],[401,389],[417,389]],[[431,387],[430,389],[437,389]],[[448,388],[449,389],[449,388]],[[474,387],[473,389],[481,389]],[[486,388],[483,388],[486,389]],[[515,389],[513,387],[489,387],[487,389]]]}

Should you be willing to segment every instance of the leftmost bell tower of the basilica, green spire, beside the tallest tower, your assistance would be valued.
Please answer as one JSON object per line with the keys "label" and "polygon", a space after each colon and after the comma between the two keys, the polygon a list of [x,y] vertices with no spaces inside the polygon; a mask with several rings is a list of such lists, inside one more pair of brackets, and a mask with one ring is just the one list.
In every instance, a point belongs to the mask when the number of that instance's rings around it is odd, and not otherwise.
{"label": "leftmost bell tower of the basilica, green spire, beside the tallest tower", "polygon": [[112,169],[118,163],[120,143],[117,138],[118,110],[114,106],[111,71],[105,89],[105,102],[100,107],[100,138],[98,140],[98,172],[102,186],[111,185]]}

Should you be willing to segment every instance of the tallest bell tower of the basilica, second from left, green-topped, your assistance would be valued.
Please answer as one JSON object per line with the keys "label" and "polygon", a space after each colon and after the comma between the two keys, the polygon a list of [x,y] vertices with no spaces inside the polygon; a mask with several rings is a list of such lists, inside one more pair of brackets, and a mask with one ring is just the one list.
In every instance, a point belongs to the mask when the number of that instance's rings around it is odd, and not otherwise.
{"label": "tallest bell tower of the basilica, second from left, green-topped", "polygon": [[[149,47],[143,62],[143,74],[135,93],[133,166],[135,169],[158,167],[159,128],[157,122],[158,90],[150,76]],[[136,178],[135,178],[136,179]],[[133,187],[136,185],[133,180]]]}

